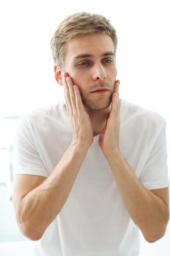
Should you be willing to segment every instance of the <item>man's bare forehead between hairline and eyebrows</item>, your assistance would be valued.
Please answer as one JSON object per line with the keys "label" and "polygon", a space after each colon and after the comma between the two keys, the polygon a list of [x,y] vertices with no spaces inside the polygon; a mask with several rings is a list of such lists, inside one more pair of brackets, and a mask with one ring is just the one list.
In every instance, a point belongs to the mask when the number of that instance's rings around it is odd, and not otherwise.
{"label": "man's bare forehead between hairline and eyebrows", "polygon": [[106,34],[77,36],[66,43],[65,60],[74,59],[79,54],[99,56],[105,52],[114,52],[114,43],[111,36]]}

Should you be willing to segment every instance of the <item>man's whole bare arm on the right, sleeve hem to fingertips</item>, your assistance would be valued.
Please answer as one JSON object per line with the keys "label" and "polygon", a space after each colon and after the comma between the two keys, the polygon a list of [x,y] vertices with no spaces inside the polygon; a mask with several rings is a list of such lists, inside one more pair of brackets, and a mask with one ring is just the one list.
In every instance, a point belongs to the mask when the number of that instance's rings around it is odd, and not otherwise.
{"label": "man's whole bare arm on the right, sleeve hem to fingertips", "polygon": [[169,220],[168,188],[149,191],[137,179],[119,150],[119,86],[115,85],[112,108],[99,137],[124,205],[148,242],[160,239]]}

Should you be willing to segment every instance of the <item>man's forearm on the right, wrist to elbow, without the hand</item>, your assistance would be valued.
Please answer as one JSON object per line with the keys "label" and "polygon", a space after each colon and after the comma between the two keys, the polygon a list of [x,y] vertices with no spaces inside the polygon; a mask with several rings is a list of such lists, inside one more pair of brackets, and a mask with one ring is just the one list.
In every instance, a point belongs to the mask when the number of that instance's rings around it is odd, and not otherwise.
{"label": "man's forearm on the right, wrist to elbow, without the hand", "polygon": [[141,184],[119,151],[109,164],[124,205],[146,240],[161,238],[169,219],[168,206]]}

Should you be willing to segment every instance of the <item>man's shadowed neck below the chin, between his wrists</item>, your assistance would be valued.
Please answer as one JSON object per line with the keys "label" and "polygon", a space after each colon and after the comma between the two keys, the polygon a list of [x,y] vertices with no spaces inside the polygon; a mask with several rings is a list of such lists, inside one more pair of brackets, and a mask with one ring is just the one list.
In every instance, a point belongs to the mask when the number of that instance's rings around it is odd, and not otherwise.
{"label": "man's shadowed neck below the chin, between his wrists", "polygon": [[108,108],[102,109],[102,110],[91,110],[91,109],[87,109],[86,107],[85,107],[85,110],[91,119],[93,135],[96,136],[106,126],[106,122],[111,110],[111,104]]}

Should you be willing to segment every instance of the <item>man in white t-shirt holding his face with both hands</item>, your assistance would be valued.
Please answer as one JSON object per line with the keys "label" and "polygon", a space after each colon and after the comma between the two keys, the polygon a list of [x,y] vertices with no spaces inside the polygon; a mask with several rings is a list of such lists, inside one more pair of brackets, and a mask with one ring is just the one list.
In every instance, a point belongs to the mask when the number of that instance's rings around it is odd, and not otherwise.
{"label": "man in white t-shirt holding his face with both hands", "polygon": [[150,243],[166,231],[166,122],[119,99],[116,47],[109,20],[85,12],[51,39],[65,103],[22,117],[15,146],[13,202],[33,255],[137,256],[139,229]]}

